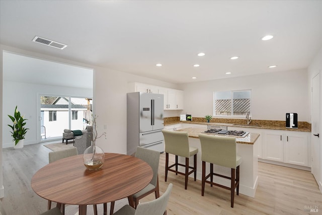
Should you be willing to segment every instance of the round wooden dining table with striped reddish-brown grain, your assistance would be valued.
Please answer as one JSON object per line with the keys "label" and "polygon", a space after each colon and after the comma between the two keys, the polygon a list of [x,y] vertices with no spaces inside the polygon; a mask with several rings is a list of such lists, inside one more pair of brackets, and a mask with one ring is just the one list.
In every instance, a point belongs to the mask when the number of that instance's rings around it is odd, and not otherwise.
{"label": "round wooden dining table with striped reddish-brown grain", "polygon": [[38,170],[31,179],[31,186],[45,199],[79,205],[79,215],[86,215],[87,205],[125,197],[134,207],[132,195],[147,186],[152,177],[152,168],[132,156],[105,153],[103,167],[88,170],[84,166],[83,155],[77,155]]}

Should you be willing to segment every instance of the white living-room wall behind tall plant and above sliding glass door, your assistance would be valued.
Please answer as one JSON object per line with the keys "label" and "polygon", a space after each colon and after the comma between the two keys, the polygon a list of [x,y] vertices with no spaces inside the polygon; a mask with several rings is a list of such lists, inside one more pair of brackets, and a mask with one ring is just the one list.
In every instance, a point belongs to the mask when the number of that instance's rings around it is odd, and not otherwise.
{"label": "white living-room wall behind tall plant and above sliding glass door", "polygon": [[[6,72],[8,71],[5,71],[5,73]],[[13,147],[10,133],[11,128],[7,126],[8,124],[12,124],[12,121],[7,115],[14,114],[16,105],[18,105],[18,109],[21,114],[28,119],[26,121],[26,127],[29,128],[29,130],[24,142],[25,145],[29,145],[37,143],[37,135],[40,135],[40,127],[37,127],[38,116],[40,116],[40,111],[37,112],[37,108],[40,107],[39,94],[93,97],[93,90],[90,89],[55,87],[5,81],[3,82],[3,87],[5,89],[3,92],[3,148]],[[61,132],[63,129],[64,128],[61,128]]]}

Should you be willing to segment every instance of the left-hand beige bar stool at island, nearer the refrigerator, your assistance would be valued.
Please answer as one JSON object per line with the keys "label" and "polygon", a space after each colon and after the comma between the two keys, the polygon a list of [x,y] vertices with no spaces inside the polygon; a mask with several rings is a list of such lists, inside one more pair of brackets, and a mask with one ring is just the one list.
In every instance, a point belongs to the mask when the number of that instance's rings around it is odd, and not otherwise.
{"label": "left-hand beige bar stool at island, nearer the refrigerator", "polygon": [[[166,152],[166,175],[165,181],[168,178],[168,171],[175,172],[176,175],[181,174],[185,176],[185,189],[188,186],[188,176],[191,173],[194,173],[194,179],[197,178],[197,153],[198,149],[189,146],[188,132],[185,131],[171,131],[171,130],[162,130],[162,133],[165,137],[165,152]],[[176,156],[175,164],[169,166],[169,153]],[[178,156],[186,158],[186,164],[180,164],[178,162]],[[189,166],[189,157],[194,156],[194,165],[193,167]],[[185,167],[185,172],[178,171],[178,166]],[[176,167],[176,170],[171,168]],[[192,169],[189,172],[189,169]]]}

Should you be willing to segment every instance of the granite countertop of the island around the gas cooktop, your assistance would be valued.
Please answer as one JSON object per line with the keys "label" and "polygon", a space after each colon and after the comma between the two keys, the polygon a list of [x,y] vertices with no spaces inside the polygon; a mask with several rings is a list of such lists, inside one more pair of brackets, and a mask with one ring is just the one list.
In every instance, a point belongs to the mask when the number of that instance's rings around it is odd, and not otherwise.
{"label": "granite countertop of the island around the gas cooktop", "polygon": [[[205,131],[205,129],[203,129],[203,128],[183,128],[183,129],[180,129],[177,131],[186,131],[186,132],[188,132],[189,137],[199,138],[199,133],[203,133]],[[209,133],[206,133],[206,134],[209,134]],[[209,135],[228,136],[225,134],[209,134]],[[229,135],[229,136],[231,136],[231,135]],[[233,136],[233,137],[236,137],[237,144],[254,145],[255,141],[257,140],[257,138],[259,136],[260,136],[260,134],[258,134],[258,133],[249,133],[245,137],[237,137],[237,136]]]}

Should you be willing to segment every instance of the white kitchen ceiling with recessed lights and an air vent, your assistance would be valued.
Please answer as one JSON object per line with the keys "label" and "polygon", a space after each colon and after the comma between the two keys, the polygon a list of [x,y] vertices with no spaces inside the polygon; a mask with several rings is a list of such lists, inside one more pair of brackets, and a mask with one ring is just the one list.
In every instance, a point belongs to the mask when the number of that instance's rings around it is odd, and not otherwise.
{"label": "white kitchen ceiling with recessed lights and an air vent", "polygon": [[[0,8],[2,44],[171,83],[306,68],[322,46],[322,1],[1,0]],[[267,34],[274,38],[262,41]]]}

